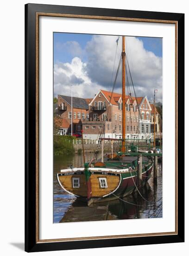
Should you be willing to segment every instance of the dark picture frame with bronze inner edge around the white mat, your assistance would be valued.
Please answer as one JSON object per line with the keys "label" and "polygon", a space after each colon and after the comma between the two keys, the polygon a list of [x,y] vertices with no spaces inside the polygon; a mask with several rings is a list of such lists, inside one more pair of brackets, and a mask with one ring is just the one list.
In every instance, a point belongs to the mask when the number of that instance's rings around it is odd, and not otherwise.
{"label": "dark picture frame with bronze inner edge around the white mat", "polygon": [[[176,27],[176,230],[161,234],[39,240],[38,222],[38,19],[40,15],[101,20],[174,23]],[[25,251],[101,248],[184,242],[184,14],[133,10],[25,5]]]}

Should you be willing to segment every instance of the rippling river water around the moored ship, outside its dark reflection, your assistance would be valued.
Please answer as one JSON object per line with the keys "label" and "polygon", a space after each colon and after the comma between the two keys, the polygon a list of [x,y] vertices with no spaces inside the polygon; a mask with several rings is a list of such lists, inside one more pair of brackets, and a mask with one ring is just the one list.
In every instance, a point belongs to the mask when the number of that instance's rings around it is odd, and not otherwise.
{"label": "rippling river water around the moored ship, outside its dark reflection", "polygon": [[[85,154],[85,161],[89,162],[93,157],[92,153]],[[57,182],[57,173],[61,169],[83,166],[82,155],[62,155],[54,157],[53,173],[53,222],[60,222],[66,212],[75,206],[79,207],[81,202],[76,197],[66,193]],[[135,219],[135,218],[161,218],[162,209],[162,167],[157,164],[157,184],[153,183],[152,177],[142,191],[129,195],[122,200],[117,199],[109,202],[98,203],[99,206],[107,206],[108,214],[112,219]],[[71,220],[70,220],[71,221]],[[85,220],[84,220],[85,221]],[[87,220],[86,220],[87,221]]]}

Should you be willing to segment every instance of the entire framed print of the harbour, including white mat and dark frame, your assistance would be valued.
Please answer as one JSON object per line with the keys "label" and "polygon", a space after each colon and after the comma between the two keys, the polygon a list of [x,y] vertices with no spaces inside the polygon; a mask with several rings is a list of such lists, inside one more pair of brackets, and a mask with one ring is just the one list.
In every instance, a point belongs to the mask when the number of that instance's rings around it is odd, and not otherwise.
{"label": "entire framed print of the harbour, including white mat and dark frame", "polygon": [[184,242],[184,14],[25,5],[25,250]]}

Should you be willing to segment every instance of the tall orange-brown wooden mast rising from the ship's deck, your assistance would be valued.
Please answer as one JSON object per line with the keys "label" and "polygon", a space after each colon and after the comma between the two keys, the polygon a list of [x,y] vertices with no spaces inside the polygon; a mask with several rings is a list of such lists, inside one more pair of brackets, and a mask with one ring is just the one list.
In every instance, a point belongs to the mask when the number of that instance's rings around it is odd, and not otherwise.
{"label": "tall orange-brown wooden mast rising from the ship's deck", "polygon": [[122,152],[126,151],[126,53],[125,36],[122,37]]}

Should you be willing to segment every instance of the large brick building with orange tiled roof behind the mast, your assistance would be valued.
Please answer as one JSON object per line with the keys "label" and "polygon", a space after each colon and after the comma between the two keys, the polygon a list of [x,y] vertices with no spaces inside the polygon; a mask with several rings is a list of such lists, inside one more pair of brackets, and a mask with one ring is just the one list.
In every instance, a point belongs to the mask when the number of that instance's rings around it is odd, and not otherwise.
{"label": "large brick building with orange tiled roof behind the mast", "polygon": [[[83,137],[122,138],[122,95],[100,90],[88,104],[88,119],[82,121]],[[139,104],[139,109],[137,105]],[[147,97],[126,95],[126,138],[145,139],[151,135],[151,106]]]}

